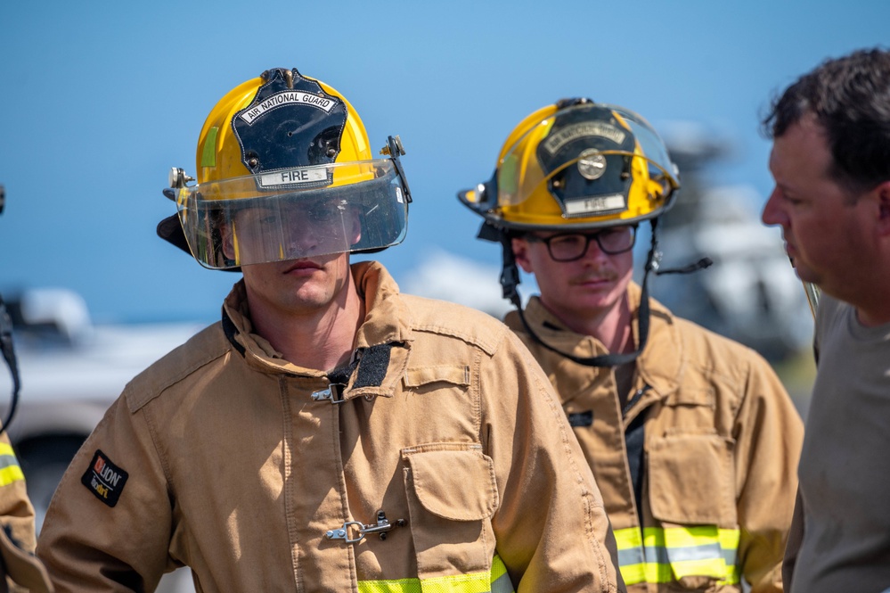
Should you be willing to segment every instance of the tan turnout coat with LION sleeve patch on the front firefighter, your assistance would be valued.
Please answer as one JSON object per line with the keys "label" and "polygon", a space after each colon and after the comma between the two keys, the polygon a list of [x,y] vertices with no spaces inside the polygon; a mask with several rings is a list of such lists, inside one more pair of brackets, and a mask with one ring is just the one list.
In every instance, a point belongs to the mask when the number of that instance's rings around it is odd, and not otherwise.
{"label": "tan turnout coat with LION sleeve patch on the front firefighter", "polygon": [[367,316],[332,399],[250,333],[242,284],[127,385],[46,516],[58,591],[153,589],[180,565],[208,592],[616,590],[600,492],[527,350],[379,264],[353,274]]}

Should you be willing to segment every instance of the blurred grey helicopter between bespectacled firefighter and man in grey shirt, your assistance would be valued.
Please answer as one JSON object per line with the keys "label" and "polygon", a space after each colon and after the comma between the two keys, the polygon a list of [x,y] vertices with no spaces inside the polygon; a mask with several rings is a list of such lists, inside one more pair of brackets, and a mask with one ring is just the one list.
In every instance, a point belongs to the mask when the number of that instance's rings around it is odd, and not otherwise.
{"label": "blurred grey helicopter between bespectacled firefighter and man in grey shirt", "polygon": [[[760,352],[772,362],[808,348],[812,314],[775,229],[764,226],[763,198],[749,185],[714,185],[708,169],[731,155],[731,141],[698,124],[663,126],[682,188],[662,217],[662,268],[708,257],[694,274],[659,276],[650,292],[680,317]],[[647,246],[648,248],[648,246]]]}

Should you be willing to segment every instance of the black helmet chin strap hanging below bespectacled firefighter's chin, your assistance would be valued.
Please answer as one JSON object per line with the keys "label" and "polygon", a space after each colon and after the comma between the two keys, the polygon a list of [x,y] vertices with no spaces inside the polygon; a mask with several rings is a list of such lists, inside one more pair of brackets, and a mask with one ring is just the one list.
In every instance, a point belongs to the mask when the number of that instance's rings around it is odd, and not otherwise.
{"label": "black helmet chin strap hanging below bespectacled firefighter's chin", "polygon": [[544,342],[538,334],[535,334],[535,330],[528,324],[525,312],[522,309],[522,302],[519,299],[519,292],[517,290],[519,284],[519,270],[516,265],[516,257],[513,254],[513,246],[510,242],[510,236],[507,233],[502,233],[501,246],[503,250],[503,269],[501,272],[501,286],[503,289],[503,296],[505,299],[510,299],[510,302],[516,307],[519,320],[522,321],[522,325],[526,328],[528,335],[547,350],[556,352],[559,356],[568,358],[572,362],[584,365],[585,367],[620,367],[621,365],[633,362],[633,360],[639,357],[641,352],[646,348],[646,342],[649,340],[649,272],[654,271],[656,276],[661,274],[689,274],[690,272],[707,268],[713,263],[709,258],[702,258],[696,263],[683,268],[659,270],[658,264],[661,260],[661,251],[658,251],[656,233],[657,223],[658,218],[651,218],[649,220],[649,224],[652,228],[652,241],[651,246],[649,247],[649,254],[646,256],[646,267],[643,271],[641,283],[640,309],[638,313],[640,340],[637,350],[634,350],[633,352],[602,354],[590,358],[576,357],[574,354],[559,350],[547,342]]}

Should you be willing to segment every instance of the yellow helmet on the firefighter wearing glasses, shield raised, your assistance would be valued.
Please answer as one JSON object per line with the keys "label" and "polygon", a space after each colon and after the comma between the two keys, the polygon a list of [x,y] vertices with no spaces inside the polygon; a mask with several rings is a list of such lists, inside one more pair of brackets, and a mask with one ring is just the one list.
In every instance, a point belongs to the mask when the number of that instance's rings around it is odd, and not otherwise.
{"label": "yellow helmet on the firefighter wearing glasses, shield raised", "polygon": [[636,224],[673,205],[679,188],[665,144],[633,111],[587,99],[523,119],[494,177],[459,194],[499,228],[569,230]]}

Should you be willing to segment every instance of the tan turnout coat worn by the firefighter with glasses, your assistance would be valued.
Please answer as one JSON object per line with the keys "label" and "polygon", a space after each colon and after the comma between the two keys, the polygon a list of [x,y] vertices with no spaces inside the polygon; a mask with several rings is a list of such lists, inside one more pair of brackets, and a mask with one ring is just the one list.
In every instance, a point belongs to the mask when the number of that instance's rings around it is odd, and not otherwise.
{"label": "tan turnout coat worn by the firefighter with glasses", "polygon": [[[635,316],[641,290],[631,284],[628,291]],[[742,590],[742,579],[753,593],[780,591],[803,441],[800,416],[754,350],[650,303],[649,341],[636,360],[625,410],[611,369],[584,367],[546,350],[530,339],[515,311],[506,322],[574,418],[615,530],[628,591],[729,593]],[[596,339],[567,329],[536,298],[526,317],[561,351],[584,358],[607,353]],[[625,431],[641,415],[638,500]]]}

